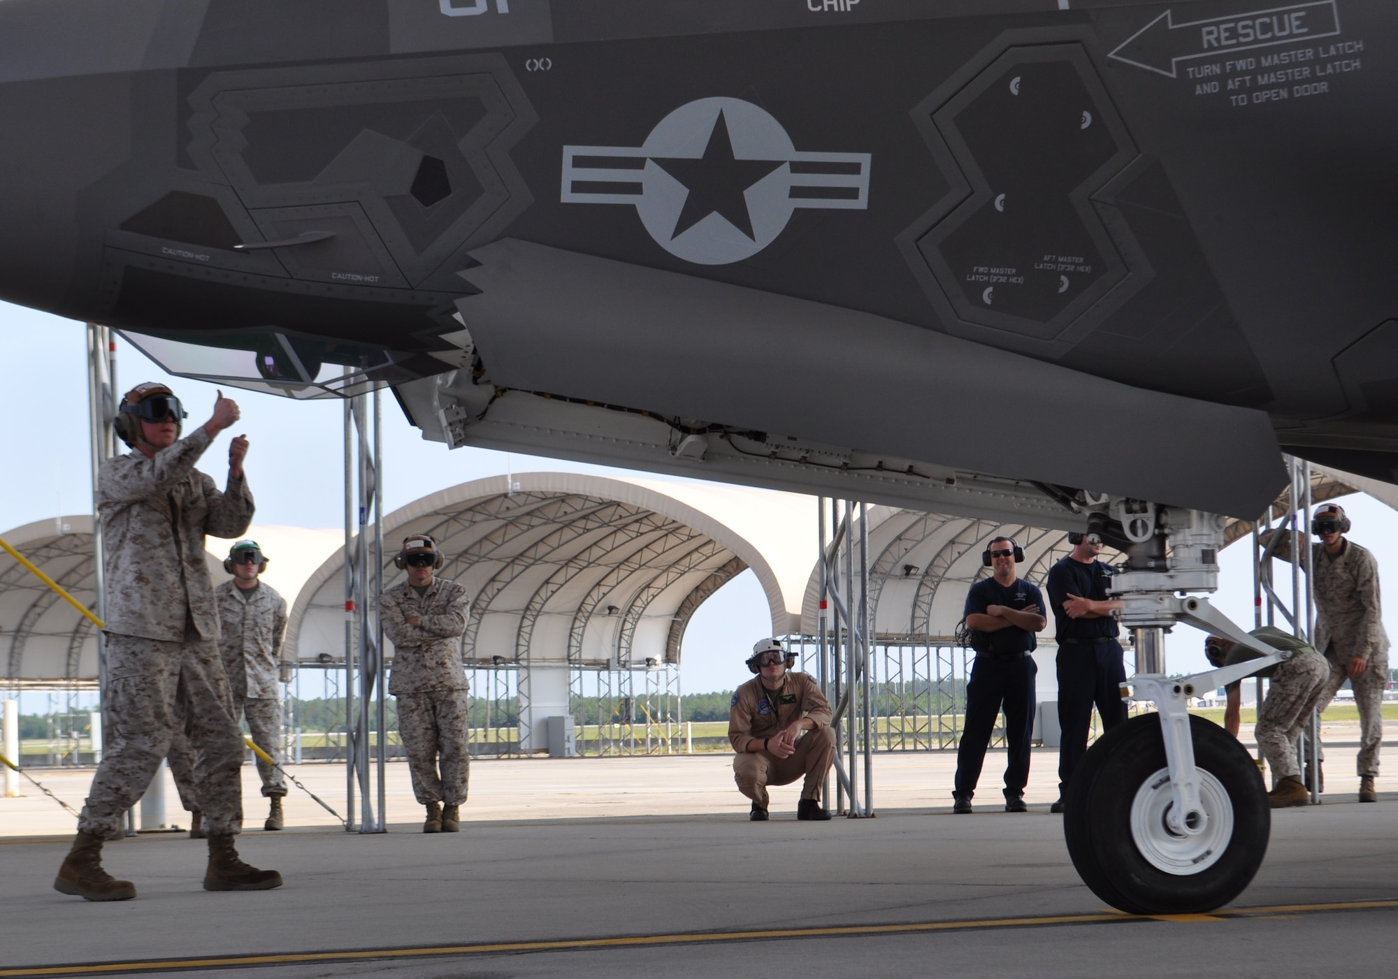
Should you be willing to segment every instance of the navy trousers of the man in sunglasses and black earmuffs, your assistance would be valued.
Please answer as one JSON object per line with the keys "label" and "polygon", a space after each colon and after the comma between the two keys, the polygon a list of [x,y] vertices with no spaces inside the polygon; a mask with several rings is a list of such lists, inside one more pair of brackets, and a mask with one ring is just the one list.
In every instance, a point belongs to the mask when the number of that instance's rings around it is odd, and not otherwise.
{"label": "navy trousers of the man in sunglasses and black earmuffs", "polygon": [[1001,706],[1005,710],[1005,741],[1009,759],[1005,765],[1005,796],[1019,796],[1029,780],[1029,738],[1035,730],[1035,677],[1039,667],[1033,656],[997,660],[977,656],[966,681],[966,727],[956,747],[956,794],[974,796],[986,748],[995,731]]}

